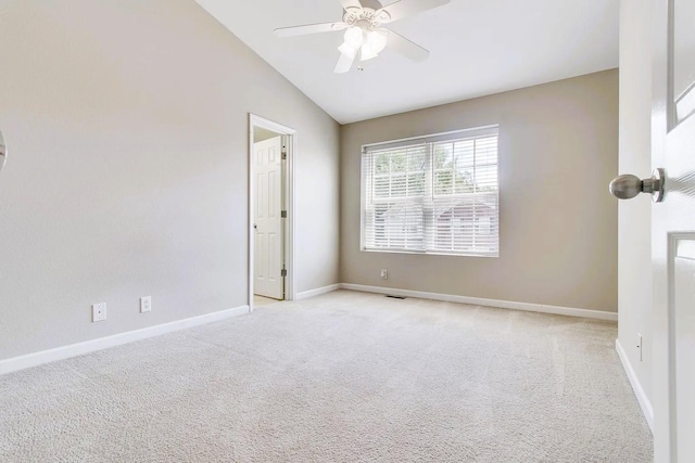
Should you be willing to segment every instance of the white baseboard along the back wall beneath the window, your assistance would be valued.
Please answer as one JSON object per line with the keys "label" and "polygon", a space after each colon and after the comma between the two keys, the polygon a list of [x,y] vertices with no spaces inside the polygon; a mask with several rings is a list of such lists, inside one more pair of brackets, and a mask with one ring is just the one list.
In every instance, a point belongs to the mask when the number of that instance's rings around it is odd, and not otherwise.
{"label": "white baseboard along the back wall beneath the window", "polygon": [[469,304],[473,306],[498,307],[502,309],[525,310],[528,312],[555,313],[558,316],[582,317],[587,319],[618,321],[618,313],[602,310],[574,309],[571,307],[546,306],[543,304],[513,303],[510,300],[483,299],[480,297],[457,296],[454,294],[425,293],[421,291],[396,290],[382,286],[365,286],[343,283],[342,290],[361,291],[363,293],[389,294],[393,296],[417,297],[420,299],[443,300],[446,303]]}

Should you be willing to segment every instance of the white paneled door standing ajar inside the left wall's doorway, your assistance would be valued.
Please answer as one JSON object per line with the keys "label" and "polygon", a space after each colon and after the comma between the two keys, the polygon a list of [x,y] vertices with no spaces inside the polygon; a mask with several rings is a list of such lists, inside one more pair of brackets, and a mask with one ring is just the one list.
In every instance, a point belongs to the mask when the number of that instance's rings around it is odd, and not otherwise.
{"label": "white paneled door standing ajar inside the left wall's doorway", "polygon": [[254,294],[285,298],[282,271],[282,139],[254,144]]}

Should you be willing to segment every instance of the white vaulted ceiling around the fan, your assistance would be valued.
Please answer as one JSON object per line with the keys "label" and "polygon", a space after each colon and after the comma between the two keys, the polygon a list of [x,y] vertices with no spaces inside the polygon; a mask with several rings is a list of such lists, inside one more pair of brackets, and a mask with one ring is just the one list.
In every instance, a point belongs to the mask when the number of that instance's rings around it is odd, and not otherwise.
{"label": "white vaulted ceiling around the fan", "polygon": [[427,61],[387,48],[343,75],[342,33],[273,34],[341,21],[339,0],[197,1],[341,124],[618,67],[619,0],[452,0],[389,25],[430,50]]}

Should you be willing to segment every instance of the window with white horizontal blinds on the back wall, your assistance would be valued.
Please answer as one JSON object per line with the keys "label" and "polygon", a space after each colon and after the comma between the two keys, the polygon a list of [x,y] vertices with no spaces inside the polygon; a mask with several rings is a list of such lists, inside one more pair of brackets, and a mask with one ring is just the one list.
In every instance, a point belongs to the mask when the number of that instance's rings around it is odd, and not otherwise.
{"label": "window with white horizontal blinds on the back wall", "polygon": [[497,132],[364,146],[362,249],[497,257]]}

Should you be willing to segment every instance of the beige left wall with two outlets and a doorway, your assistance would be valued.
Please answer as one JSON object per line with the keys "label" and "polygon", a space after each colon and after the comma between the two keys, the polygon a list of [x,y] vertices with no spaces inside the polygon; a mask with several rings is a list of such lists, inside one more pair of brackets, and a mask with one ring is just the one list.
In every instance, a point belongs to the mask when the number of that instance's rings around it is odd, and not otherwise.
{"label": "beige left wall with two outlets and a doorway", "polygon": [[195,2],[8,0],[0,30],[0,359],[245,305],[250,112],[298,130],[298,291],[339,282],[338,124]]}

